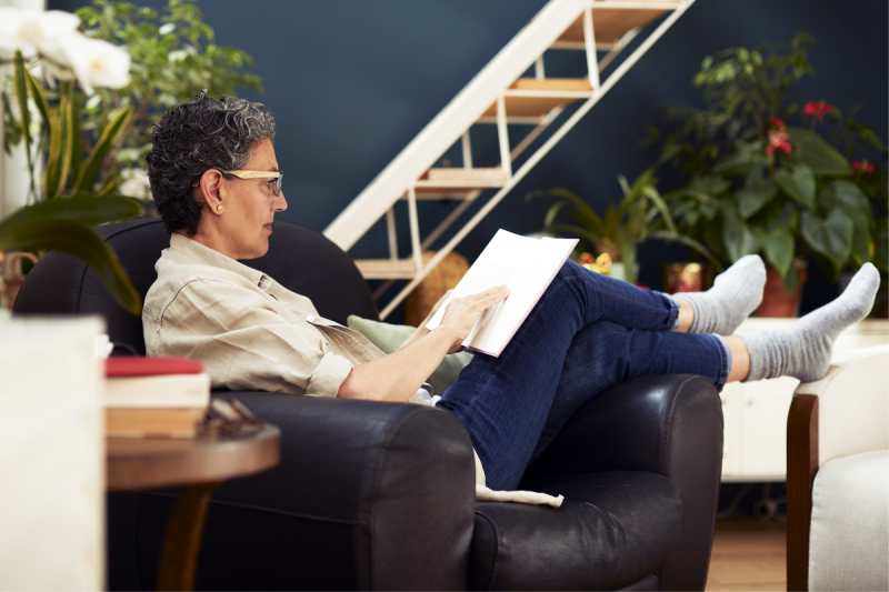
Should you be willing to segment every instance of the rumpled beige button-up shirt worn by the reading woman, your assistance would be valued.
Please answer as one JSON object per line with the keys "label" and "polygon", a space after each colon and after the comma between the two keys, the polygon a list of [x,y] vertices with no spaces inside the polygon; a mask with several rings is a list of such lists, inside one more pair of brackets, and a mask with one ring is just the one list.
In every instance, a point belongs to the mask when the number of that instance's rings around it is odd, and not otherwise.
{"label": "rumpled beige button-up shirt worn by the reading woman", "polygon": [[311,300],[181,234],[154,265],[142,325],[149,355],[203,362],[214,388],[336,397],[383,353]]}

